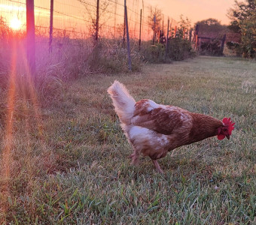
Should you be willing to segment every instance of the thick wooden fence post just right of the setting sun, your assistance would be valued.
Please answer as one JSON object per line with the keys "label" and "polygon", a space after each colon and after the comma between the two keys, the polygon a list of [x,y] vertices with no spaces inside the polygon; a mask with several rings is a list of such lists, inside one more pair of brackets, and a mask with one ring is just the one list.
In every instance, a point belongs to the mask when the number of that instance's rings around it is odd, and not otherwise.
{"label": "thick wooden fence post just right of the setting sun", "polygon": [[28,58],[30,73],[35,76],[34,0],[26,0],[26,55]]}

